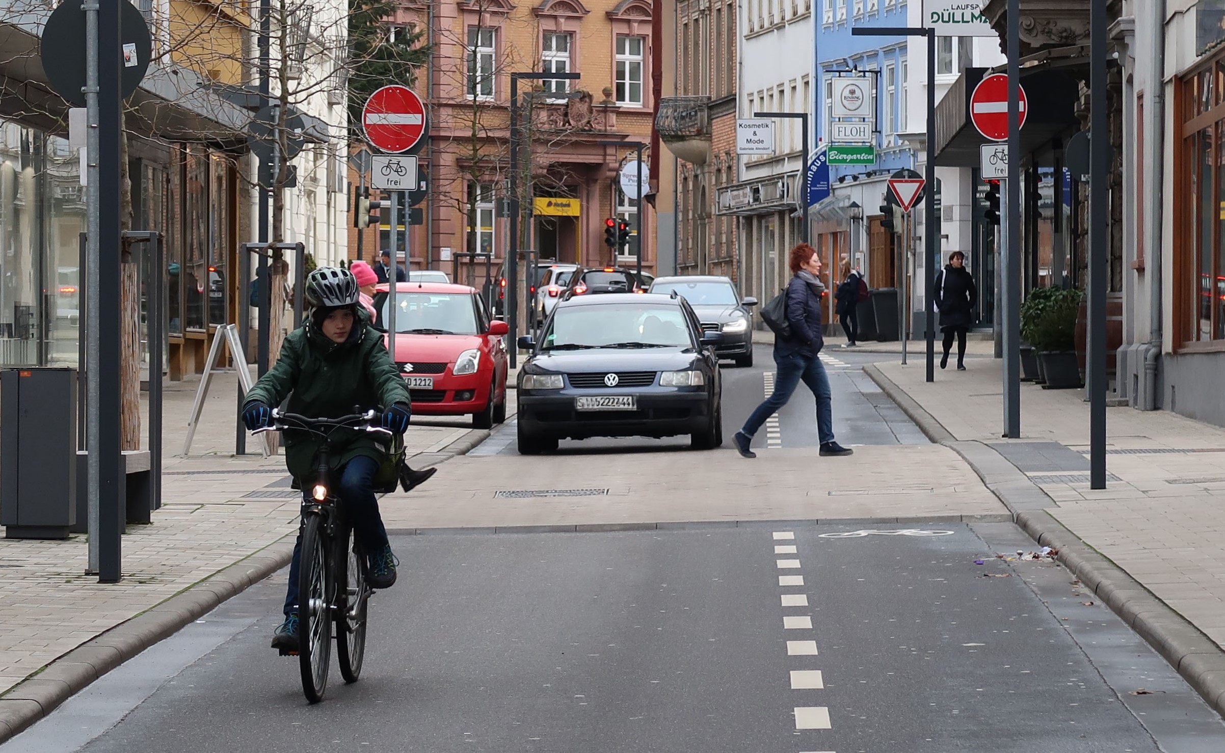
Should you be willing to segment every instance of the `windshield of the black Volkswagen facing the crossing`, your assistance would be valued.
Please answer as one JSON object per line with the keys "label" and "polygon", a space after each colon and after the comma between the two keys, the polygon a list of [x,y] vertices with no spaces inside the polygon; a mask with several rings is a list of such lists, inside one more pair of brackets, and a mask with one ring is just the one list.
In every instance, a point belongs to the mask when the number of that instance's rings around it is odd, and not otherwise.
{"label": "windshield of the black Volkswagen facing the crossing", "polygon": [[543,350],[693,347],[679,307],[612,304],[565,306],[555,311]]}

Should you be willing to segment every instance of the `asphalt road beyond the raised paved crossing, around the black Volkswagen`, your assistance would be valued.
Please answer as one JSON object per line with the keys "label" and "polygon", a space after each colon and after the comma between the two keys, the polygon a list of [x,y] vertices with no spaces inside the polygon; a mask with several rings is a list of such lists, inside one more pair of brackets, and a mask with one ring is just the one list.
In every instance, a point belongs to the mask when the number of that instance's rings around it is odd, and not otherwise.
{"label": "asphalt road beyond the raised paved crossing, around the black Volkswagen", "polygon": [[[755,365],[740,369],[731,361],[723,361],[723,436],[724,446],[731,447],[731,435],[744,426],[757,404],[771,393],[774,360],[771,345],[758,344],[753,354]],[[862,353],[853,349],[829,348],[821,359],[829,376],[833,393],[834,436],[846,447],[858,444],[925,444],[927,438],[910,419],[864,373],[862,366],[898,356],[881,353]],[[771,429],[778,429],[778,440],[769,441]],[[658,452],[688,447],[688,437],[650,437],[590,440],[562,440],[557,452],[562,454],[615,452]],[[777,414],[777,422],[768,422],[753,441],[753,448],[767,447],[817,447],[816,400],[802,383],[796,387],[791,400]],[[513,419],[494,430],[494,436],[474,455],[517,454]]]}

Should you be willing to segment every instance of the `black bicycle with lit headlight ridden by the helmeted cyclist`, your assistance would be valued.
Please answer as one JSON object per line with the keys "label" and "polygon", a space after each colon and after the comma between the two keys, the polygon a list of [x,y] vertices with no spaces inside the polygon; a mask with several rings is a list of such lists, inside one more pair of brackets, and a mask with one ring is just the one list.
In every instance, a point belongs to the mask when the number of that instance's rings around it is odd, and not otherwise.
{"label": "black bicycle with lit headlight ridden by the helmeted cyclist", "polygon": [[[318,452],[318,470],[309,493],[303,490],[301,561],[298,569],[298,665],[306,700],[318,703],[327,689],[331,666],[332,627],[336,627],[336,653],[345,683],[358,681],[366,651],[366,617],[372,590],[368,582],[366,552],[344,517],[344,504],[332,492],[333,470],[328,466],[328,437],[338,429],[383,433],[379,414],[368,410],[338,419],[311,419],[292,413],[272,411],[272,425],[265,431],[306,431],[325,440]],[[298,480],[294,480],[295,489]],[[387,490],[376,490],[387,491]],[[337,584],[344,583],[343,589]],[[292,655],[282,650],[281,655]]]}

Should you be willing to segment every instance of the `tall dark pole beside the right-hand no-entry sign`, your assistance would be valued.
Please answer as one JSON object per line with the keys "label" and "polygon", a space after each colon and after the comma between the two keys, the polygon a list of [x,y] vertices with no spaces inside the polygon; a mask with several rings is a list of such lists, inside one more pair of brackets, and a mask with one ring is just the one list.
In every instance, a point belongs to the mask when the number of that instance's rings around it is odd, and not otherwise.
{"label": "tall dark pole beside the right-hand no-entry sign", "polygon": [[[1003,192],[1006,267],[1003,298],[1005,436],[1020,437],[1020,0],[1008,0],[1008,179]],[[1003,224],[1001,223],[1001,224]]]}

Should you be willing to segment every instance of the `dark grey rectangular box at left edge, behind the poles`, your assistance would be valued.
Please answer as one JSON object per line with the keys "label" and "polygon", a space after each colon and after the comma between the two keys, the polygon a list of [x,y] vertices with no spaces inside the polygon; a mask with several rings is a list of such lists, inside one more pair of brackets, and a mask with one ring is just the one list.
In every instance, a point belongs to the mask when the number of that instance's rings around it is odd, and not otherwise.
{"label": "dark grey rectangular box at left edge, behind the poles", "polygon": [[76,523],[76,369],[0,371],[0,525],[67,539]]}

